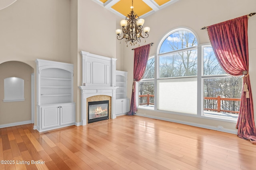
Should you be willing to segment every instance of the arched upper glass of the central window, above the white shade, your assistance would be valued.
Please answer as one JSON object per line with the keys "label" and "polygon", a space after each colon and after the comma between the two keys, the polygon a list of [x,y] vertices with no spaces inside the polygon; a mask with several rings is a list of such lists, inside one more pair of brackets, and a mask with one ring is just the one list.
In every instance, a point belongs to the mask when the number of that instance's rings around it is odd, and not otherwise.
{"label": "arched upper glass of the central window, above the white shade", "polygon": [[167,34],[158,53],[159,78],[196,76],[197,39],[188,29]]}

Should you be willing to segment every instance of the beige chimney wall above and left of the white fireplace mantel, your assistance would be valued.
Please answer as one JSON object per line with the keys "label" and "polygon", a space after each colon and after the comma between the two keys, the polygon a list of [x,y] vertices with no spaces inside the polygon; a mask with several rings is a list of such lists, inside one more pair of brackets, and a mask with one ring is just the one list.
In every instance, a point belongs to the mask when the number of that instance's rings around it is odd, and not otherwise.
{"label": "beige chimney wall above and left of the white fireplace mantel", "polygon": [[[82,57],[80,51],[116,58],[115,30],[117,16],[92,0],[71,1],[75,1],[72,2],[74,4],[77,3],[77,11],[74,9],[75,7],[72,8],[72,14],[77,14],[77,18],[75,16],[72,17],[72,19],[77,20],[77,29],[72,30],[72,33],[77,31],[77,47],[73,47],[71,56],[75,65],[74,74],[77,74],[76,80],[74,77],[76,121],[80,123],[81,92],[78,88],[78,86],[82,85]],[[75,39],[75,37],[72,37],[72,39]]]}

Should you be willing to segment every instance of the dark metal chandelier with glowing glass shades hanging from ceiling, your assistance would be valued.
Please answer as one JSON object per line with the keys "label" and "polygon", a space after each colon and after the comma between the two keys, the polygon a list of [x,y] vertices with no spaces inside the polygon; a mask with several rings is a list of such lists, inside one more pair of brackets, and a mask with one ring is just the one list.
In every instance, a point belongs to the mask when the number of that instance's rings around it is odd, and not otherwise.
{"label": "dark metal chandelier with glowing glass shades hanging from ceiling", "polygon": [[[125,39],[125,42],[128,47],[128,42],[130,45],[135,45],[140,43],[140,38],[148,38],[148,32],[150,31],[150,27],[142,27],[144,24],[144,19],[140,19],[137,14],[133,11],[133,0],[132,0],[132,11],[127,15],[125,20],[121,20],[120,24],[122,29],[116,29],[117,39]],[[142,35],[142,28],[145,32],[145,35]],[[121,37],[121,33],[123,32],[123,36]],[[146,42],[146,40],[145,40]],[[139,45],[140,46],[140,45]]]}

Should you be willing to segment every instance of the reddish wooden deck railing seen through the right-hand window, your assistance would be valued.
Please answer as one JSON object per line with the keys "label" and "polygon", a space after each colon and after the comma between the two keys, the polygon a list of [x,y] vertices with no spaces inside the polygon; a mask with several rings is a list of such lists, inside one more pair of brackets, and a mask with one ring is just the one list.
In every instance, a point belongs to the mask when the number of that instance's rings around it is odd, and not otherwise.
{"label": "reddish wooden deck railing seen through the right-hand window", "polygon": [[[214,106],[215,109],[207,108],[209,104],[206,104],[206,102],[209,100],[217,100],[217,103],[213,102],[213,104],[212,104],[212,106]],[[229,103],[225,103],[225,101],[228,101]],[[216,98],[204,97],[204,110],[217,111],[217,112],[239,113],[239,111],[227,110],[225,108],[232,105],[233,109],[239,110],[240,102],[241,102],[240,98],[221,98],[220,96],[217,96]],[[228,106],[226,106],[226,105],[228,105]]]}

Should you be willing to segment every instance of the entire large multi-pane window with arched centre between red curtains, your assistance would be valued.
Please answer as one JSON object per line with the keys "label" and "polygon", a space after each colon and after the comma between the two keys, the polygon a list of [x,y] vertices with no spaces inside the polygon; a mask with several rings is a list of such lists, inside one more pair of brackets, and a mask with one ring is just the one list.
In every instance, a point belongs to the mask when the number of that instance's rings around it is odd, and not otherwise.
{"label": "entire large multi-pane window with arched centre between red curtains", "polygon": [[163,37],[138,82],[140,108],[225,121],[237,121],[241,94],[242,78],[226,74],[212,46],[186,28]]}

